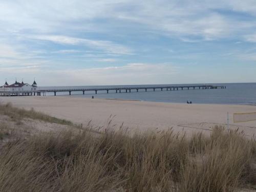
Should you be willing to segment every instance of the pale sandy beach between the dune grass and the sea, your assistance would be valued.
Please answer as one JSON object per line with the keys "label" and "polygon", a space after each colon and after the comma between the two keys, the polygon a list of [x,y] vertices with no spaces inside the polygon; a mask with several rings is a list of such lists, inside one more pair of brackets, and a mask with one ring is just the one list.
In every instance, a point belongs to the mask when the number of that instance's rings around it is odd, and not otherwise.
{"label": "pale sandy beach between the dune grass and the sea", "polygon": [[[233,113],[256,112],[255,105],[224,104],[181,104],[144,102],[130,100],[88,99],[74,97],[0,97],[0,102],[12,102],[15,106],[41,111],[49,115],[86,124],[92,120],[95,126],[104,126],[111,115],[117,127],[123,122],[124,127],[135,130],[166,130],[193,132],[211,129],[214,124],[227,122],[230,114],[231,129],[238,126],[246,135],[256,133],[256,121],[233,123]],[[206,122],[206,123],[203,123]],[[191,124],[190,123],[195,123]],[[251,127],[247,127],[251,126]],[[194,127],[194,128],[193,128]],[[253,128],[255,127],[255,128]],[[209,132],[209,131],[205,131]]]}

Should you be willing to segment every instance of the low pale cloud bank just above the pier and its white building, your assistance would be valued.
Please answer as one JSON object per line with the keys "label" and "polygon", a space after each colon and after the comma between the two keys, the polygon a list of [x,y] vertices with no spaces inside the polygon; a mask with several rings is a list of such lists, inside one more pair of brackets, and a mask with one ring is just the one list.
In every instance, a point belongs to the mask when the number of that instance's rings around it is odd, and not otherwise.
{"label": "low pale cloud bank just above the pier and its white building", "polygon": [[19,79],[35,77],[38,86],[93,86],[173,82],[170,79],[174,78],[173,75],[177,74],[178,70],[179,68],[169,63],[128,63],[118,67],[62,70],[42,70],[40,66],[1,67],[0,75],[3,81],[5,78],[15,79],[17,75]]}

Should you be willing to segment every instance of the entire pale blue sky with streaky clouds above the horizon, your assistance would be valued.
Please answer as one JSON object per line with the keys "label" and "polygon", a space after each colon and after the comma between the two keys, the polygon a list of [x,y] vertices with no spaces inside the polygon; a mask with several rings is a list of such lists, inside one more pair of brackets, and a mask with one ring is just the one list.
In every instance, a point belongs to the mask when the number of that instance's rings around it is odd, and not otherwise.
{"label": "entire pale blue sky with streaky clouds above the horizon", "polygon": [[0,0],[0,84],[256,82],[255,0]]}

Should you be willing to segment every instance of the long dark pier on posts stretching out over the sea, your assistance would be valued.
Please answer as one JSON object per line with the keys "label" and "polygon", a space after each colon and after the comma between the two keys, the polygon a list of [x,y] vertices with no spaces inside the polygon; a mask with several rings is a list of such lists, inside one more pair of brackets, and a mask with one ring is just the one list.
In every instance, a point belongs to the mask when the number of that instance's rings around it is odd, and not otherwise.
{"label": "long dark pier on posts stretching out over the sea", "polygon": [[110,91],[116,91],[116,93],[131,93],[131,90],[135,90],[139,92],[139,90],[147,90],[152,91],[175,91],[175,90],[189,90],[189,89],[226,89],[226,86],[213,86],[211,84],[207,85],[190,85],[190,86],[152,86],[152,87],[113,87],[113,88],[84,88],[84,89],[49,89],[49,90],[35,90],[35,91],[0,91],[0,96],[45,96],[46,93],[54,93],[54,96],[57,95],[58,92],[67,92],[71,95],[72,92],[81,92],[84,94],[87,91],[94,91],[97,94],[98,91],[106,91],[109,93]]}

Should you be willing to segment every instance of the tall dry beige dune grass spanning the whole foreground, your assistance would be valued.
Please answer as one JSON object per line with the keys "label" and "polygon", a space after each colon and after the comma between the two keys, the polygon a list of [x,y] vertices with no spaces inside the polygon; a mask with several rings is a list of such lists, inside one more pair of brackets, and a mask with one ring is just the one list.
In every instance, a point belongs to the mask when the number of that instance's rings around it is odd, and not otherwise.
{"label": "tall dry beige dune grass spanning the whole foreground", "polygon": [[255,162],[256,142],[221,127],[191,138],[43,133],[2,148],[0,191],[239,191],[255,189]]}

